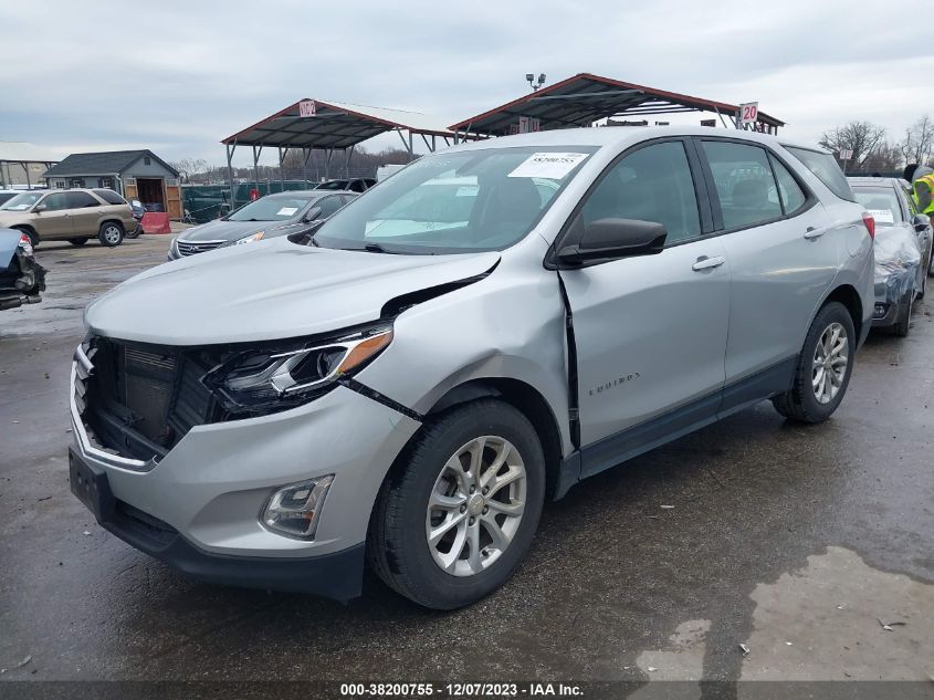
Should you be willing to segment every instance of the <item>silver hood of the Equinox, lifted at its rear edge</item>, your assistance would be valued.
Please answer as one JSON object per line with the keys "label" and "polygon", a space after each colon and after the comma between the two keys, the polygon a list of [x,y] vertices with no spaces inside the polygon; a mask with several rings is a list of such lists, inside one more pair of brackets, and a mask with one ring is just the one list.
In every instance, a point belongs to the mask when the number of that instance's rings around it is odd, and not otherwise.
{"label": "silver hood of the Equinox, lifted at its rear edge", "polygon": [[342,251],[277,238],[147,270],[91,304],[85,321],[103,335],[165,345],[312,335],[376,321],[389,300],[482,274],[499,259]]}

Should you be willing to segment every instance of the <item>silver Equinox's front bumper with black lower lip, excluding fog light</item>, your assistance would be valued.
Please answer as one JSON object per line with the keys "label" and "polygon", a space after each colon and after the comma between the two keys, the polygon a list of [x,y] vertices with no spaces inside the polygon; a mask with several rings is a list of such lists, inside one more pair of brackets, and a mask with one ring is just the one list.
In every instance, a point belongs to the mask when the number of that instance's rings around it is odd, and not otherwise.
{"label": "silver Equinox's front bumper with black lower lip, excluding fog light", "polygon": [[[95,443],[75,400],[77,363],[72,372],[73,459],[103,474],[113,498],[111,510],[95,511],[104,527],[206,581],[356,595],[359,582],[346,576],[359,577],[376,495],[418,421],[338,386],[292,410],[197,426],[160,461],[144,463]],[[263,527],[260,515],[275,490],[325,474],[334,482],[314,541]],[[141,537],[127,513],[157,523],[166,541]],[[319,568],[326,573],[300,582]],[[343,594],[327,583],[332,576],[345,576]]]}

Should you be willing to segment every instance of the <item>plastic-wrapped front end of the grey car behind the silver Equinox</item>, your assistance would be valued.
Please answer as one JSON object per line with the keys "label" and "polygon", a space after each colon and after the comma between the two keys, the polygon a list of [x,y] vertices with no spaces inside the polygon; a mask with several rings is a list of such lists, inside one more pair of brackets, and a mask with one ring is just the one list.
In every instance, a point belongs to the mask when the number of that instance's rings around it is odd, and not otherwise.
{"label": "plastic-wrapped front end of the grey car behind the silver Equinox", "polygon": [[875,236],[875,307],[872,325],[896,323],[914,295],[919,282],[921,250],[911,231],[902,227],[881,228]]}

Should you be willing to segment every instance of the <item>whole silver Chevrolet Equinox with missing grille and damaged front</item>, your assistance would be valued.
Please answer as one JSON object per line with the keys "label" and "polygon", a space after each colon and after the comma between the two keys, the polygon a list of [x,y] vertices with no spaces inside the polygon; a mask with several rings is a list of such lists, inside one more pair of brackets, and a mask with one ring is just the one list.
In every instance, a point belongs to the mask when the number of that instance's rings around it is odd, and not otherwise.
{"label": "whole silver Chevrolet Equinox with missing grille and damaged front", "polygon": [[[454,227],[452,178],[475,178]],[[409,230],[375,231],[388,211]],[[763,399],[827,420],[872,318],[872,234],[832,155],[752,132],[426,155],[304,245],[93,302],[72,489],[206,581],[347,599],[368,561],[421,605],[466,605],[579,480]]]}

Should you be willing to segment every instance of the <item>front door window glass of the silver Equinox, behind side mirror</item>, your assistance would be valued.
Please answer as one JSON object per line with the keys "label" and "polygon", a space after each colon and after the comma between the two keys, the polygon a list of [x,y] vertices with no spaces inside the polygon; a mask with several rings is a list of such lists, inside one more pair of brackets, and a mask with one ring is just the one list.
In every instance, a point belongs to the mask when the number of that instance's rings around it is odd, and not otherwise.
{"label": "front door window glass of the silver Equinox, behind side mirror", "polygon": [[641,219],[664,226],[667,243],[701,234],[697,196],[681,142],[652,144],[623,157],[606,174],[581,210],[598,219]]}

